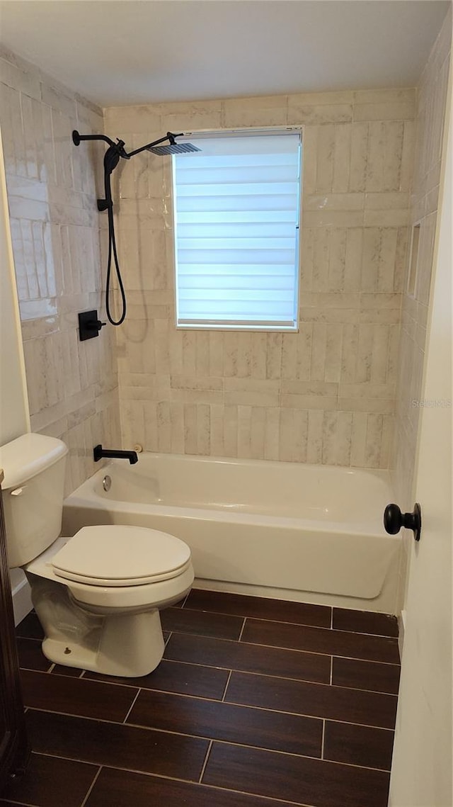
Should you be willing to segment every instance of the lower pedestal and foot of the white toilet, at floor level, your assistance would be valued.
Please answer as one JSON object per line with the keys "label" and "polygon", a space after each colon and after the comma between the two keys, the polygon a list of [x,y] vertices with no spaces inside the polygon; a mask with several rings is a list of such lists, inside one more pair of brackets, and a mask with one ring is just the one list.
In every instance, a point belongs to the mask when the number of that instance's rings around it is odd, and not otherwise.
{"label": "lower pedestal and foot of the white toilet, at floor level", "polygon": [[70,637],[48,637],[42,643],[44,655],[56,664],[125,678],[138,678],[156,669],[164,654],[158,610],[102,617],[102,623],[96,647]]}

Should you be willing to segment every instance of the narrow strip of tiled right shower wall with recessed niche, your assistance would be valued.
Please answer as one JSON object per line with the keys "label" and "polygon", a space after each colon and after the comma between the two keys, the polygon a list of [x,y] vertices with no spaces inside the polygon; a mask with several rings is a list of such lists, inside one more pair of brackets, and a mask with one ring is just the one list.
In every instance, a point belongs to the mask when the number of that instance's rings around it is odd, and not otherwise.
{"label": "narrow strip of tiled right shower wall with recessed niche", "polygon": [[[418,420],[423,403],[422,375],[425,361],[426,324],[434,266],[434,238],[438,215],[439,182],[446,113],[448,74],[451,61],[451,10],[443,23],[418,89],[414,182],[410,197],[409,239],[414,224],[420,225],[418,263],[414,292],[409,293],[409,262],[402,299],[401,345],[397,380],[395,441],[391,467],[397,501],[401,508],[414,508],[414,469]],[[446,179],[451,182],[451,178]],[[411,261],[412,262],[412,261]],[[440,405],[450,405],[440,402]],[[403,539],[401,588],[405,587],[405,561],[412,533]]]}

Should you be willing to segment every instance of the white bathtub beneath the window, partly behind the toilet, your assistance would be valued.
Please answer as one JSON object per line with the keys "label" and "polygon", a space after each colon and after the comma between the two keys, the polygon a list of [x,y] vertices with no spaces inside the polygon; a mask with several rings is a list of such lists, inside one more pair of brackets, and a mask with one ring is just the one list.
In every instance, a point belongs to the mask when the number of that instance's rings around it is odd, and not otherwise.
{"label": "white bathtub beneath the window, partly behind the toilet", "polygon": [[191,547],[199,587],[396,613],[401,541],[382,525],[392,498],[386,471],[143,453],[65,500],[63,534],[161,529]]}

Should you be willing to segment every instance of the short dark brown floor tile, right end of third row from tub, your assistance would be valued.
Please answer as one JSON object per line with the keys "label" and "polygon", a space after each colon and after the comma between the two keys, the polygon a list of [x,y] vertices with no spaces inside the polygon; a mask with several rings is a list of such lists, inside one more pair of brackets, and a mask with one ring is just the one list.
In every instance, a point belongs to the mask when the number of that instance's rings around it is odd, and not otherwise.
{"label": "short dark brown floor tile, right end of third row from tub", "polygon": [[339,687],[371,689],[374,692],[398,694],[400,667],[355,659],[333,659],[332,684]]}

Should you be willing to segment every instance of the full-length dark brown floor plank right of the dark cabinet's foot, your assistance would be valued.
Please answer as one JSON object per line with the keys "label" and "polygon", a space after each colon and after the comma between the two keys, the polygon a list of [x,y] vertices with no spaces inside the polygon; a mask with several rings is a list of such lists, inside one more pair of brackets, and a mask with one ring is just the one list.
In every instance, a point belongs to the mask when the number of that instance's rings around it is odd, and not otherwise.
{"label": "full-length dark brown floor plank right of the dark cabinet's foot", "polygon": [[209,747],[198,738],[33,709],[26,719],[31,744],[41,753],[191,781],[199,779]]}

